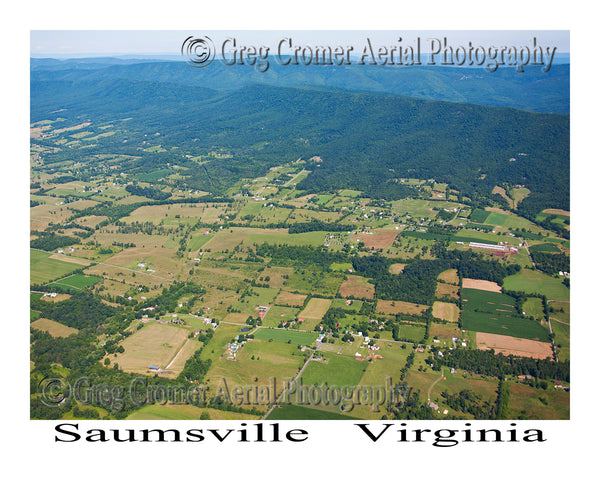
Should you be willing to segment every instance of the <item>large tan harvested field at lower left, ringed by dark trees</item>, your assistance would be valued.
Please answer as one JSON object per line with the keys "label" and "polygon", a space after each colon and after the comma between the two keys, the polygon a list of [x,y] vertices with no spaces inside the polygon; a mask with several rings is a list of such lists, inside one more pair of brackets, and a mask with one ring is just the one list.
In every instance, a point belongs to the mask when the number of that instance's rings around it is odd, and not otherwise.
{"label": "large tan harvested field at lower left, ringed by dark trees", "polygon": [[[148,367],[153,365],[165,369],[187,342],[189,333],[186,328],[156,322],[149,323],[123,340],[121,345],[125,351],[118,353],[116,357],[111,356],[111,363],[118,363],[125,372],[154,375],[156,372],[148,370]],[[200,348],[200,343],[197,341],[189,343]],[[194,350],[195,348],[186,345],[186,348],[179,353],[176,362],[169,368],[170,376],[177,376],[181,372],[185,361]]]}

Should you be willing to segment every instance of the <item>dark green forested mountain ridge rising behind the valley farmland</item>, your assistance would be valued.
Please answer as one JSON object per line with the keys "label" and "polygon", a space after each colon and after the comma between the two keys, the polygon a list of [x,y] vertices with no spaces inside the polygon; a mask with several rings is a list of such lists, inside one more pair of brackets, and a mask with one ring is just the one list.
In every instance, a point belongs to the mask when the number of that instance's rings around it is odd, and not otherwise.
{"label": "dark green forested mountain ridge rising behind the valley farmland", "polygon": [[[159,129],[161,144],[182,151],[231,151],[186,173],[195,188],[206,188],[209,176],[222,190],[265,168],[319,156],[323,162],[300,188],[350,187],[393,199],[403,195],[400,178],[416,177],[477,198],[495,185],[522,184],[532,190],[522,209],[569,208],[567,115],[317,87],[247,85],[223,93],[122,79],[32,80],[31,97],[32,122],[127,117],[137,138]],[[115,153],[131,154],[135,139]]]}

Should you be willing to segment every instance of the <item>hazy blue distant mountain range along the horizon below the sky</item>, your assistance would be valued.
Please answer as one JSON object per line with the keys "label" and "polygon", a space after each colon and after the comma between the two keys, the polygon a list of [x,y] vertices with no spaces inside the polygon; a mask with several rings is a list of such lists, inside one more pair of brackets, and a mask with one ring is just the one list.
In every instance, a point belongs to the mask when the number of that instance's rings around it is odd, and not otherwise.
{"label": "hazy blue distant mountain range along the horizon below the sky", "polygon": [[504,67],[287,65],[270,62],[266,72],[250,66],[214,61],[194,68],[183,61],[135,58],[31,59],[31,79],[71,82],[105,79],[169,82],[214,90],[236,90],[249,84],[320,86],[393,93],[414,98],[513,107],[544,113],[570,111],[570,65],[553,64],[548,72],[529,66],[518,73]]}

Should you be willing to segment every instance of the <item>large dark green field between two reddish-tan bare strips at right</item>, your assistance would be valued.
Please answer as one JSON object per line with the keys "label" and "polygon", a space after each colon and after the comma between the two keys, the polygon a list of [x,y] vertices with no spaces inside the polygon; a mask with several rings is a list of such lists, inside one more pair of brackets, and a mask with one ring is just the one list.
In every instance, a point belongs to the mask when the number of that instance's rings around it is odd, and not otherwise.
{"label": "large dark green field between two reddish-tan bare strips at right", "polygon": [[547,342],[549,331],[535,320],[521,316],[515,300],[502,293],[464,288],[462,327],[476,332],[495,333]]}

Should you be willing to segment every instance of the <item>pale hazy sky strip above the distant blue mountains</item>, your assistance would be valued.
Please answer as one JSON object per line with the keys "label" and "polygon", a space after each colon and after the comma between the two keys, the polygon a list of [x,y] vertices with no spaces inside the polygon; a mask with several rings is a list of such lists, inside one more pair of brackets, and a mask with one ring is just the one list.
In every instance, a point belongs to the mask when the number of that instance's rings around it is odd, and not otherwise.
{"label": "pale hazy sky strip above the distant blue mountains", "polygon": [[[429,51],[429,39],[450,45],[521,46],[538,45],[570,51],[568,30],[31,30],[30,53],[33,57],[79,57],[100,55],[178,55],[183,41],[190,35],[209,36],[215,45],[227,38],[236,38],[246,45],[266,45],[275,51],[284,38],[294,45],[355,45],[364,46],[369,38],[375,45],[411,45],[420,38],[424,51]],[[402,38],[399,41],[399,38]]]}

